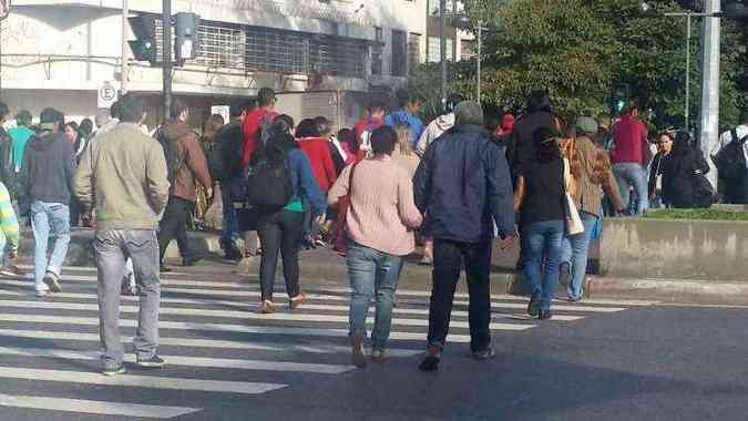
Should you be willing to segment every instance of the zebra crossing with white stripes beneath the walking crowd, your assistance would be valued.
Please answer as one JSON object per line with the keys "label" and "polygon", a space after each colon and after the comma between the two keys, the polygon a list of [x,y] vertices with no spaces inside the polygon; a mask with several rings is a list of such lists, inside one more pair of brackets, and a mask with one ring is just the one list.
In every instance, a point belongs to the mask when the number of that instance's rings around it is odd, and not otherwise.
{"label": "zebra crossing with white stripes beneath the walking crowd", "polygon": [[[4,411],[23,409],[38,411],[31,413],[39,417],[70,413],[71,419],[82,413],[171,419],[240,397],[319,387],[355,370],[347,340],[347,288],[308,288],[310,300],[300,308],[259,315],[256,278],[249,284],[246,278],[219,281],[178,273],[163,278],[160,355],[167,366],[146,370],[132,364],[129,343],[137,297],[123,296],[121,329],[130,364],[127,373],[111,378],[99,372],[94,268],[63,269],[63,291],[43,299],[33,296],[30,279],[0,279],[0,419],[6,419]],[[428,291],[398,291],[392,362],[411,358],[414,364],[421,355],[428,296]],[[279,308],[287,305],[281,291],[274,298]],[[458,295],[454,304],[448,341],[469,343],[468,297]],[[559,302],[550,324],[653,304]],[[491,307],[496,337],[539,326],[524,315],[526,300],[521,297],[492,296]]]}

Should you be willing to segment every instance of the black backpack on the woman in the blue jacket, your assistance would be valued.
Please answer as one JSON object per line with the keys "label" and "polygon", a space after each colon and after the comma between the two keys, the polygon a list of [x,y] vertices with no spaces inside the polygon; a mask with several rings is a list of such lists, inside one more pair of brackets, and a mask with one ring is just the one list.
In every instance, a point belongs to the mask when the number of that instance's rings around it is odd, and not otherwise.
{"label": "black backpack on the woman in the blue jacket", "polygon": [[247,204],[264,213],[280,210],[294,196],[288,157],[280,162],[265,156],[247,170]]}

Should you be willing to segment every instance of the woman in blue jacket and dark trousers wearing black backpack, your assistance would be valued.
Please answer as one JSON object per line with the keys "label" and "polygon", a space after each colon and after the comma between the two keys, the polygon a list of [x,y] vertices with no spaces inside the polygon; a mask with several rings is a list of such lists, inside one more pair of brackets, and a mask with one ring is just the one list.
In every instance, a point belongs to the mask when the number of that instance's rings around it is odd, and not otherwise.
{"label": "woman in blue jacket and dark trousers wearing black backpack", "polygon": [[259,264],[262,314],[275,312],[273,289],[278,251],[283,256],[289,307],[307,300],[299,287],[299,247],[304,234],[304,201],[312,216],[324,220],[327,204],[297,142],[281,130],[255,154],[248,176],[248,203],[259,213],[257,234],[263,247]]}

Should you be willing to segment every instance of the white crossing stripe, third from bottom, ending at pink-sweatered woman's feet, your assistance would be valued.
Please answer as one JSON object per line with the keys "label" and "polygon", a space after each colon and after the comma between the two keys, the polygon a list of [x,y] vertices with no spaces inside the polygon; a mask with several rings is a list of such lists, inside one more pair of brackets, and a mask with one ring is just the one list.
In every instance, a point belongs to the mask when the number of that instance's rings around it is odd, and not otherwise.
{"label": "white crossing stripe, third from bottom, ending at pink-sweatered woman's feet", "polygon": [[[99,360],[100,352],[81,352],[65,349],[0,347],[0,355],[23,357],[49,357],[66,360]],[[170,366],[209,367],[222,369],[311,372],[316,374],[340,374],[353,369],[352,366],[315,364],[304,362],[238,360],[227,358],[161,356]],[[135,356],[125,356],[125,361],[135,362]]]}

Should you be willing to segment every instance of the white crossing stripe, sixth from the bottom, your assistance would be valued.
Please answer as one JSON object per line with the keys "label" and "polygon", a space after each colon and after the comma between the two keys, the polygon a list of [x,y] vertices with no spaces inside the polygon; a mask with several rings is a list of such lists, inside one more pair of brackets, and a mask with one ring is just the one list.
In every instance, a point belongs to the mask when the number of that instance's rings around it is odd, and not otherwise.
{"label": "white crossing stripe, sixth from the bottom", "polygon": [[[81,310],[81,311],[99,311],[99,305],[95,304],[79,304],[79,302],[52,302],[52,301],[16,301],[16,300],[0,300],[0,307],[4,308],[44,308],[59,310]],[[139,308],[134,306],[121,306],[120,311],[126,314],[137,314]],[[245,320],[281,320],[281,321],[315,321],[315,322],[337,322],[348,324],[348,316],[335,315],[314,315],[299,312],[276,312],[273,315],[262,315],[252,311],[236,311],[236,310],[214,310],[214,309],[198,309],[198,308],[171,308],[161,307],[160,315],[173,316],[194,316],[194,317],[223,317]],[[428,314],[428,312],[427,312]],[[369,314],[368,322],[373,322],[373,317]],[[428,327],[429,320],[426,319],[400,319],[392,318],[392,326],[416,326]],[[505,324],[491,324],[489,328],[492,330],[504,329]],[[470,324],[467,321],[450,322],[450,327],[457,329],[469,329]]]}

